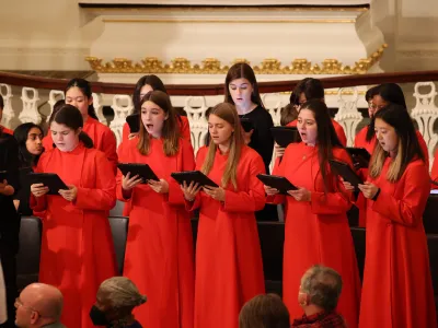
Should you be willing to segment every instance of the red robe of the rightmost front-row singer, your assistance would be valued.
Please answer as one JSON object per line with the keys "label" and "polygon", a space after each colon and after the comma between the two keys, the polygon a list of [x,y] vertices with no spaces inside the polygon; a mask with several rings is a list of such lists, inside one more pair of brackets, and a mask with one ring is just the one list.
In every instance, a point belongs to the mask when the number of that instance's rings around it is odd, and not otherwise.
{"label": "red robe of the rightmost front-row singer", "polygon": [[437,327],[423,212],[429,196],[427,166],[411,162],[401,179],[387,180],[388,157],[376,201],[367,199],[367,239],[359,327]]}

